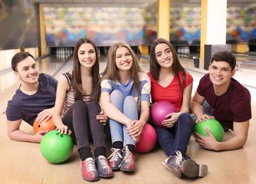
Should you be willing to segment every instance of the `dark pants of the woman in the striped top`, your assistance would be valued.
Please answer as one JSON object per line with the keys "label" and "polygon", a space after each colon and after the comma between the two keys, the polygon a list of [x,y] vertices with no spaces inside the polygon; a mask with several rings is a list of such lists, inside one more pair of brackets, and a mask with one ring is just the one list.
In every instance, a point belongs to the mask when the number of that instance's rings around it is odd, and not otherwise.
{"label": "dark pants of the woman in the striped top", "polygon": [[105,148],[104,126],[96,116],[101,112],[98,102],[91,101],[85,104],[82,100],[75,101],[68,112],[62,117],[63,123],[72,131],[71,137],[78,149],[90,147],[92,138],[94,149]]}

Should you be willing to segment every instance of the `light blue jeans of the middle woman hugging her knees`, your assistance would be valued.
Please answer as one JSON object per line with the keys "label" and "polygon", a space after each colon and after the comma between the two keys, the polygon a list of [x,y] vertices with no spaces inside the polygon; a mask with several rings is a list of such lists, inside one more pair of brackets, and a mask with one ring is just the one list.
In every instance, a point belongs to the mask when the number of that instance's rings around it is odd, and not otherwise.
{"label": "light blue jeans of the middle woman hugging her knees", "polygon": [[[124,113],[131,121],[138,120],[138,104],[134,97],[124,95],[119,90],[114,90],[110,94],[110,102],[114,104],[121,113]],[[121,141],[124,146],[131,144],[135,146],[135,141],[127,133],[127,126],[122,123],[119,123],[115,120],[109,119],[109,126],[111,131],[111,140],[112,143],[116,141]]]}

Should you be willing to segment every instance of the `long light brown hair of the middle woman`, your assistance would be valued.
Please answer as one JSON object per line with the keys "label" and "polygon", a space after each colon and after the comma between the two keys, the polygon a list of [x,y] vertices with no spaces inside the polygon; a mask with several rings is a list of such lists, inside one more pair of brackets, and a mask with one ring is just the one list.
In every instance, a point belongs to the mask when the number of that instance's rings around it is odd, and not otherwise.
{"label": "long light brown hair of the middle woman", "polygon": [[108,51],[108,59],[107,59],[107,66],[105,68],[105,71],[102,74],[101,81],[108,79],[111,81],[116,81],[119,78],[119,71],[118,67],[115,64],[115,59],[116,59],[116,50],[118,48],[127,48],[128,51],[131,54],[131,57],[133,59],[133,64],[131,67],[131,78],[134,81],[135,84],[135,89],[138,92],[138,102],[140,99],[140,81],[138,78],[138,72],[144,72],[139,63],[138,63],[138,58],[136,57],[134,51],[132,51],[131,47],[125,42],[125,41],[118,41],[115,42],[114,44],[111,44],[111,47],[109,48]]}

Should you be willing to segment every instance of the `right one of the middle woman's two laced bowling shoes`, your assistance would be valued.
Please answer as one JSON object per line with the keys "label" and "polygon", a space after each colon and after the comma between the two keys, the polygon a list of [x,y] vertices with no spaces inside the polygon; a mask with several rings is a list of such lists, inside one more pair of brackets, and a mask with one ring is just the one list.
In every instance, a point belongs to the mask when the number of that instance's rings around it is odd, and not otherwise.
{"label": "right one of the middle woman's two laced bowling shoes", "polygon": [[134,171],[136,168],[135,165],[135,154],[131,153],[128,149],[128,146],[125,146],[121,150],[124,153],[123,161],[121,162],[120,170],[122,171]]}

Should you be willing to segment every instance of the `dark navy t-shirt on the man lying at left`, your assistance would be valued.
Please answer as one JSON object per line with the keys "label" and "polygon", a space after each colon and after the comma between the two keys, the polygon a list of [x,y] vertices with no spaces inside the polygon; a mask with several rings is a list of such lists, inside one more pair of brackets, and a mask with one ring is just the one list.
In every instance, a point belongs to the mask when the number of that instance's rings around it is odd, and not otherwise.
{"label": "dark navy t-shirt on the man lying at left", "polygon": [[9,121],[20,120],[33,126],[35,118],[42,110],[55,106],[58,81],[48,74],[39,74],[38,91],[35,94],[24,94],[18,88],[12,100],[8,101],[6,117]]}

